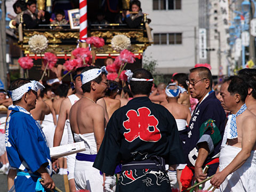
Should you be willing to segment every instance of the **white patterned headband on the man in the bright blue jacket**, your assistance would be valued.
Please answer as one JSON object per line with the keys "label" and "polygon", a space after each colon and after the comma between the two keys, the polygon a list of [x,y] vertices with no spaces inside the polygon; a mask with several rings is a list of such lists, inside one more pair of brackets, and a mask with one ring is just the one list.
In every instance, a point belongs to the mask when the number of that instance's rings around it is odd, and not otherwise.
{"label": "white patterned headband on the man in the bright blue jacket", "polygon": [[26,83],[25,85],[21,85],[20,87],[18,87],[15,90],[12,91],[8,91],[8,93],[11,95],[12,101],[17,101],[20,98],[22,98],[22,96],[29,92],[30,90],[34,90],[34,91],[38,91],[40,89],[44,89],[44,86],[37,82],[37,81],[30,81],[30,83]]}

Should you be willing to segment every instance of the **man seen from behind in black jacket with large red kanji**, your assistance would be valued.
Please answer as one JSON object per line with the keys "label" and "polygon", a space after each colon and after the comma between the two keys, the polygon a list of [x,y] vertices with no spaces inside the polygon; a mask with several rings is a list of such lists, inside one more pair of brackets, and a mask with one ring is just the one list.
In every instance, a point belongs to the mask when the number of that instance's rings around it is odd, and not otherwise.
{"label": "man seen from behind in black jacket with large red kanji", "polygon": [[153,85],[149,71],[125,74],[133,99],[111,116],[93,166],[106,174],[106,191],[113,191],[113,174],[121,162],[116,191],[171,191],[165,163],[171,171],[185,163],[175,119],[148,98]]}

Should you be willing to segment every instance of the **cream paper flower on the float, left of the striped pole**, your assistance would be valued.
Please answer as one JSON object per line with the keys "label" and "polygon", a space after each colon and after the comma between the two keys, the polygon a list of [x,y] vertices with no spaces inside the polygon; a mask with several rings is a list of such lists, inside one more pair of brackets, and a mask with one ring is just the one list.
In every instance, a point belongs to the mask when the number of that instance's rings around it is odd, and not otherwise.
{"label": "cream paper flower on the float, left of the striped pole", "polygon": [[33,53],[42,53],[48,46],[48,40],[44,35],[34,35],[29,39],[29,48]]}

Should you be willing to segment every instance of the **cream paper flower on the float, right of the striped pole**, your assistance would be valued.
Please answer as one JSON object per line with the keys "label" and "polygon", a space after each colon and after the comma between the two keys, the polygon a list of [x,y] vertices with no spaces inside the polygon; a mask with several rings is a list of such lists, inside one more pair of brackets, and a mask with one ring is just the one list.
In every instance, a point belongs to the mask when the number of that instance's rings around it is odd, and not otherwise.
{"label": "cream paper flower on the float, right of the striped pole", "polygon": [[111,39],[111,47],[115,51],[122,51],[129,49],[131,46],[131,40],[126,35],[115,35]]}

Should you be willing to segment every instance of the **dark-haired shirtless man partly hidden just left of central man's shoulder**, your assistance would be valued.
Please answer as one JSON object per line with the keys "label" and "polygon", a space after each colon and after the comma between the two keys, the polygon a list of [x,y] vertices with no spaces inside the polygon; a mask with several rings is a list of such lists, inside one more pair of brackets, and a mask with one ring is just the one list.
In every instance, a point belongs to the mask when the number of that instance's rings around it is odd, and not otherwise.
{"label": "dark-haired shirtless man partly hidden just left of central man's shoulder", "polygon": [[107,111],[109,118],[115,112],[116,109],[119,109],[121,106],[121,101],[116,99],[116,95],[119,92],[119,84],[115,81],[109,81],[109,87],[106,92],[104,100],[107,105]]}

